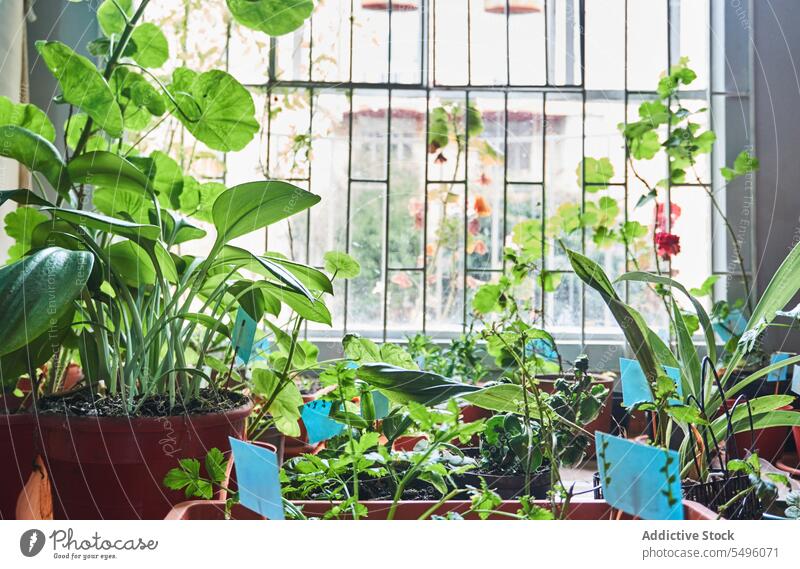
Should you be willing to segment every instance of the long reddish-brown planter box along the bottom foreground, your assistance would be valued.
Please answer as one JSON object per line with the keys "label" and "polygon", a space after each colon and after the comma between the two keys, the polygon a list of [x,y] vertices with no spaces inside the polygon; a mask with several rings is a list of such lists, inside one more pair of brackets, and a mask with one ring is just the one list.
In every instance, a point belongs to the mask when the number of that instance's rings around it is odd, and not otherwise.
{"label": "long reddish-brown planter box along the bottom foreground", "polygon": [[[549,507],[549,502],[546,500],[536,500],[536,505],[543,508]],[[322,517],[334,505],[331,502],[294,502],[298,507],[302,507],[303,513],[309,517]],[[367,507],[368,520],[385,520],[389,509],[392,506],[391,502],[362,502]],[[418,501],[418,502],[400,502],[395,512],[396,520],[416,520],[419,519],[430,508],[436,505],[432,501]],[[438,515],[446,514],[447,512],[458,512],[465,514],[469,511],[472,503],[469,501],[450,501],[445,502],[435,513]],[[520,508],[520,503],[517,501],[505,501],[497,509],[500,512],[515,514]],[[183,502],[175,506],[165,519],[168,520],[222,520],[225,519],[225,503],[222,501],[209,501],[209,500],[194,500]],[[708,508],[684,500],[683,512],[686,520],[714,520],[717,514]],[[478,519],[477,515],[465,515],[467,519]],[[251,512],[247,508],[236,505],[231,511],[231,519],[235,520],[260,520],[264,519],[258,514]],[[496,514],[489,519],[509,520],[508,516]],[[606,502],[602,500],[593,500],[587,502],[573,502],[569,507],[569,520],[630,520],[631,516],[626,514],[619,515],[619,511],[613,509]]]}

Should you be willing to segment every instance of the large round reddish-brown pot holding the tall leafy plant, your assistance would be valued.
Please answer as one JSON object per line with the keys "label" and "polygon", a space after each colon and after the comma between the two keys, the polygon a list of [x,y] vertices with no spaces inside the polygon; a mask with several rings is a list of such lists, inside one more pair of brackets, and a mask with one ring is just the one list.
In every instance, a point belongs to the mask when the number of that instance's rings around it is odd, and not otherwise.
{"label": "large round reddish-brown pot holding the tall leafy plant", "polygon": [[250,403],[224,413],[172,417],[40,415],[39,443],[56,519],[160,519],[185,499],[163,485],[181,458],[203,460],[242,438]]}

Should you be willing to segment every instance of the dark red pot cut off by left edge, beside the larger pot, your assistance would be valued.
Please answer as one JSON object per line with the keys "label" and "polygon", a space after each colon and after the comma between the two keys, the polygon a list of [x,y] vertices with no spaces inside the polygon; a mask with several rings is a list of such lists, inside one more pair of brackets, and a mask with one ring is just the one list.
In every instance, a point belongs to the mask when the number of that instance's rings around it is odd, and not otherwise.
{"label": "dark red pot cut off by left edge, beside the larger pot", "polygon": [[28,481],[36,458],[34,420],[29,413],[0,414],[0,519],[15,519],[17,496]]}

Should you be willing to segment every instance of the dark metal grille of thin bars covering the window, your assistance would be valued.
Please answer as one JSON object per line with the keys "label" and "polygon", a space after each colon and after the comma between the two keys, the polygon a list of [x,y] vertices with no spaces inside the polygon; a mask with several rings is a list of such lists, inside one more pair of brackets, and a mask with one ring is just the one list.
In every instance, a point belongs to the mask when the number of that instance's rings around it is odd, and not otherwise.
{"label": "dark metal grille of thin bars covering the window", "polygon": [[[591,199],[593,192],[591,187],[587,189],[587,184],[568,190],[564,189],[563,184],[568,176],[575,179],[578,174],[576,167],[583,179],[583,158],[590,155],[587,142],[593,141],[592,133],[587,131],[587,120],[602,118],[602,103],[613,103],[621,115],[619,122],[625,122],[632,111],[635,113],[635,105],[640,100],[655,96],[654,91],[642,88],[641,81],[636,81],[636,84],[629,82],[632,67],[641,67],[641,58],[637,59],[638,55],[632,51],[639,50],[641,46],[629,45],[632,37],[631,11],[635,10],[636,17],[641,19],[645,9],[652,14],[654,27],[663,29],[666,26],[663,42],[657,38],[653,40],[653,50],[663,55],[659,68],[653,70],[655,72],[667,69],[682,55],[681,40],[686,38],[682,38],[680,27],[681,22],[686,21],[687,11],[702,15],[707,19],[707,25],[711,26],[717,21],[714,14],[721,4],[721,0],[691,3],[686,0],[659,0],[648,2],[643,8],[640,0],[602,3],[598,0],[328,0],[320,2],[317,12],[304,30],[288,37],[271,38],[266,81],[247,85],[254,94],[260,94],[265,100],[265,150],[261,158],[265,161],[266,173],[317,191],[331,181],[329,172],[323,170],[322,174],[317,174],[321,159],[325,157],[328,162],[336,160],[339,156],[334,156],[334,147],[338,145],[341,149],[345,144],[347,147],[344,157],[346,168],[341,169],[344,172],[342,187],[335,193],[328,190],[323,195],[322,204],[317,206],[319,211],[307,212],[304,219],[295,220],[293,225],[289,225],[289,231],[293,230],[292,239],[302,238],[301,246],[292,247],[291,253],[298,260],[321,264],[321,251],[318,250],[321,246],[315,234],[315,222],[317,225],[330,225],[333,220],[343,227],[326,227],[326,231],[329,234],[338,232],[334,241],[358,259],[362,243],[357,241],[365,237],[360,224],[367,223],[361,219],[361,215],[368,211],[368,222],[380,225],[378,234],[366,235],[373,246],[377,242],[380,248],[377,268],[369,267],[377,273],[365,282],[349,281],[340,285],[337,300],[334,301],[340,303],[335,310],[338,314],[334,324],[335,333],[356,331],[387,339],[403,337],[415,330],[447,335],[468,326],[471,291],[474,291],[475,282],[485,282],[503,271],[502,246],[513,224],[527,217],[544,219],[553,213],[555,205],[559,204],[559,199],[565,193],[581,207],[585,207],[587,199]],[[609,21],[613,20],[614,29],[623,36],[622,53],[609,54],[610,58],[622,59],[611,66],[615,72],[622,73],[621,82],[612,88],[597,87],[591,81],[587,83],[587,73],[590,78],[592,73],[591,62],[587,66],[587,55],[596,62],[597,50],[603,48],[596,39],[590,40],[587,46],[587,23],[589,29],[592,28],[587,16],[596,17],[598,11],[606,9],[604,6],[614,11]],[[333,38],[332,42],[320,40],[319,28],[323,25],[320,11],[323,8],[329,10],[329,17],[333,13],[331,11],[338,11],[340,16],[339,37]],[[459,17],[454,17],[454,14]],[[492,14],[494,18],[489,37],[486,29],[478,29],[473,25],[478,20],[488,22],[487,14]],[[364,34],[365,17],[372,19],[370,25],[375,27],[373,40],[378,38],[366,45],[359,39],[360,34]],[[415,23],[401,25],[401,19],[406,24],[412,19]],[[639,24],[636,23],[637,26]],[[410,37],[409,29],[414,30],[413,37]],[[706,30],[706,33],[707,37],[699,42],[705,60],[699,63],[706,69],[707,84],[701,89],[684,92],[683,97],[697,103],[697,106],[709,107],[713,106],[715,97],[725,101],[727,98],[740,98],[737,100],[744,106],[746,89],[737,87],[732,93],[725,86],[714,85],[712,76],[715,71],[711,65],[713,28],[710,33]],[[496,37],[497,34],[501,37]],[[230,38],[230,29],[228,36]],[[525,44],[528,36],[533,39]],[[320,46],[320,42],[323,45]],[[533,49],[521,57],[522,50],[518,48],[523,44]],[[592,53],[587,54],[587,47]],[[501,55],[487,60],[486,50]],[[335,53],[331,54],[331,51]],[[230,57],[228,49],[229,67],[232,63]],[[418,62],[418,69],[411,72],[405,67],[398,69],[398,58],[407,63],[409,57]],[[287,62],[290,64],[287,65]],[[365,62],[369,64],[366,69]],[[321,69],[328,64],[334,71],[326,76]],[[487,67],[492,70],[489,80],[486,79]],[[655,80],[649,81],[648,85],[648,89],[654,87]],[[277,126],[280,112],[285,110],[290,94],[300,94],[306,101],[303,112],[307,111],[307,128],[303,132],[294,132],[291,142],[293,148],[300,148],[300,154],[306,153],[308,160],[300,168],[290,168],[290,175],[286,175],[285,164],[281,164],[286,158],[280,158],[275,150],[279,144],[279,136],[275,132],[280,128]],[[338,124],[332,129],[334,132],[331,136],[335,141],[328,149],[330,152],[315,147],[318,139],[315,138],[315,128],[320,120],[320,108],[324,106],[321,101],[325,97],[338,97],[340,103],[346,101],[345,110],[337,115]],[[380,99],[385,104],[360,105],[358,101],[361,99]],[[417,106],[409,105],[409,101],[414,101]],[[492,107],[481,109],[484,130],[480,140],[471,140],[468,118],[467,124],[462,125],[463,132],[460,135],[466,147],[465,157],[463,161],[456,160],[457,166],[453,167],[452,176],[445,179],[439,175],[443,168],[437,164],[436,156],[427,152],[431,111],[442,101],[458,101],[463,105],[462,108],[469,108],[474,102],[489,101]],[[573,112],[559,112],[560,106],[568,106]],[[594,107],[600,111],[592,111]],[[409,121],[417,124],[417,131],[412,132],[413,129],[408,127]],[[471,200],[474,201],[476,195],[483,191],[476,179],[484,174],[480,171],[480,162],[471,159],[471,144],[486,144],[487,141],[490,146],[502,151],[502,163],[495,165],[493,174],[497,179],[491,180],[496,194],[492,204],[498,206],[502,214],[497,215],[495,211],[492,216],[491,238],[494,242],[488,253],[489,260],[476,262],[467,251],[471,238],[470,209],[474,209]],[[622,138],[619,137],[618,141],[621,146]],[[284,146],[286,143],[283,140]],[[570,149],[567,154],[572,154],[561,157],[561,163],[556,163],[558,153],[565,147]],[[617,149],[612,151],[617,152]],[[618,151],[623,152],[621,149]],[[536,156],[531,158],[532,155]],[[595,151],[594,156],[601,157],[604,154]],[[453,161],[452,156],[448,159]],[[516,174],[524,170],[519,166],[526,160],[531,164],[538,162],[538,171],[529,168],[528,177],[524,178]],[[711,162],[715,160],[712,158]],[[402,189],[404,186],[398,180],[405,175],[403,168],[412,163],[422,170],[421,165],[417,164],[420,161],[424,162],[424,171],[417,172],[419,177],[414,182],[416,186],[413,192]],[[632,189],[635,180],[631,179],[624,162],[621,166],[608,184],[607,191],[624,201],[622,215],[624,220],[628,220],[636,200]],[[568,174],[554,173],[554,170],[565,169],[569,171]],[[710,164],[706,170],[711,170]],[[323,179],[315,178],[315,174]],[[452,282],[448,282],[446,287],[447,293],[456,298],[449,312],[444,315],[432,310],[432,306],[436,305],[433,302],[435,300],[441,307],[443,301],[433,297],[443,294],[445,287],[441,281],[437,283],[435,280],[437,275],[434,271],[437,270],[435,265],[438,261],[429,258],[429,247],[438,239],[435,233],[439,230],[433,226],[436,223],[433,214],[437,204],[431,196],[442,183],[450,185],[448,193],[452,191],[454,194],[453,199],[458,202],[454,207],[462,215],[460,224],[452,228],[460,250],[448,259],[458,265],[457,279],[451,279]],[[681,191],[690,190],[694,185],[699,184],[682,184]],[[409,197],[412,193],[413,196]],[[671,204],[673,188],[667,188],[666,193],[666,203]],[[521,200],[520,206],[517,196],[522,194],[527,194],[527,197]],[[420,198],[421,204],[412,204],[414,196]],[[375,200],[374,207],[364,206],[367,203],[364,200],[367,199]],[[717,232],[718,220],[714,219],[710,203],[707,200],[698,203],[702,203],[704,215],[710,220],[710,231]],[[412,205],[421,211],[421,226],[418,223],[415,225],[417,236],[410,239],[414,243],[415,240],[420,241],[416,260],[412,258],[413,255],[393,254],[398,247],[393,241],[393,236],[398,235],[395,223],[398,219],[397,208],[402,205],[407,206],[408,215],[414,217],[415,223],[419,221],[420,213],[411,212]],[[358,215],[354,217],[355,214]],[[327,221],[320,221],[320,215],[327,216]],[[669,215],[667,219],[669,223]],[[282,228],[271,228],[266,235],[266,248],[272,246],[274,249],[283,240],[276,233],[283,232],[285,230]],[[685,235],[690,236],[691,233]],[[687,239],[686,236],[684,239]],[[720,256],[726,259],[724,239],[709,241],[712,243],[709,272],[713,270],[714,274],[723,275],[731,272],[722,266],[725,260],[721,264],[716,261]],[[574,236],[570,244],[597,257],[612,274],[631,268],[624,253],[593,248],[585,230]],[[684,246],[691,245],[686,243]],[[405,259],[406,262],[399,263],[398,259]],[[536,306],[545,322],[549,322],[562,338],[581,343],[587,338],[596,338],[598,329],[603,329],[602,322],[600,325],[587,326],[587,313],[594,315],[592,318],[598,321],[611,322],[599,302],[587,298],[584,286],[571,275],[563,257],[553,251],[543,250],[541,265],[550,274],[563,275],[559,277],[562,281],[555,293],[546,293],[542,287],[536,287],[533,292]],[[413,290],[408,291],[408,288]],[[634,293],[630,287],[625,290],[626,298],[635,302]],[[392,313],[414,313],[414,318],[402,320],[390,315],[389,305],[400,294],[405,295],[406,304],[401,302],[399,308],[392,309]],[[720,294],[719,290],[717,294]],[[558,321],[560,314],[567,314],[570,322],[562,325]],[[608,329],[611,330],[611,326]],[[320,336],[324,331],[314,329],[310,333]]]}

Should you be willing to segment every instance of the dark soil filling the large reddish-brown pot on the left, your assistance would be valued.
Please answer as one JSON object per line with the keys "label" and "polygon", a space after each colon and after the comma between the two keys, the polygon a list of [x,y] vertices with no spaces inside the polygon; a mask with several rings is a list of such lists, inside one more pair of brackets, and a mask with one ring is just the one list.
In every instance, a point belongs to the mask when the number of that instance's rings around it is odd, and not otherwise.
{"label": "dark soil filling the large reddish-brown pot on the left", "polygon": [[[134,405],[142,400],[134,397]],[[170,407],[168,395],[150,395],[145,398],[136,417],[169,417],[175,415],[205,415],[232,411],[247,403],[247,397],[233,391],[201,389],[197,398],[177,400]],[[64,395],[52,395],[39,400],[39,412],[78,417],[128,417],[130,416],[121,395],[98,396],[88,389]]]}

